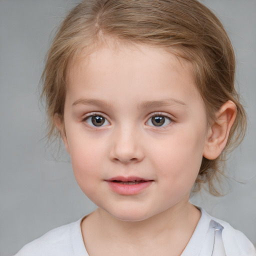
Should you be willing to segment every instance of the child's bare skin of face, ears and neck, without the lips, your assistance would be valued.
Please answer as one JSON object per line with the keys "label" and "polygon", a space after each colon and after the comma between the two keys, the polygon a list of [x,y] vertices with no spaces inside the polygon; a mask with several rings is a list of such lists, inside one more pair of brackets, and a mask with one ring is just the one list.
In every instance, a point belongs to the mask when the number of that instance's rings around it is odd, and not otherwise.
{"label": "child's bare skin of face, ears and neck, without the lips", "polygon": [[[105,121],[95,126],[91,115]],[[70,68],[64,121],[55,121],[77,183],[98,206],[81,223],[89,255],[180,255],[200,218],[188,199],[202,156],[223,149],[234,104],[216,116],[208,126],[188,63],[161,48],[103,45]],[[123,195],[106,181],[116,176],[151,182]]]}

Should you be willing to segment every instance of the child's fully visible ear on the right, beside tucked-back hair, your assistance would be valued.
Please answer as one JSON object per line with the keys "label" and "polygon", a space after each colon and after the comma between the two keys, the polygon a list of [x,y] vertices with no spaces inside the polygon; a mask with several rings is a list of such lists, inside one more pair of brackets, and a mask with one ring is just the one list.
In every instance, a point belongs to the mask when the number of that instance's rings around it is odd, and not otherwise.
{"label": "child's fully visible ear on the right, beside tucked-back hair", "polygon": [[216,113],[216,120],[209,127],[205,140],[203,156],[216,159],[224,149],[230,129],[236,117],[236,106],[233,101],[225,102]]}

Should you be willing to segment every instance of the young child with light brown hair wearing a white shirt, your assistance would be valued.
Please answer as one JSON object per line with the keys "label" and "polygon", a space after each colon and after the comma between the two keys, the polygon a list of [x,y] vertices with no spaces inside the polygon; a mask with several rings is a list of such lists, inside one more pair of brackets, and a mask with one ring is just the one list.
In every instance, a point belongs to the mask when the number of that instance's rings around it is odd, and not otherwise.
{"label": "young child with light brown hair wearing a white shirt", "polygon": [[242,139],[234,53],[197,0],[84,0],[43,72],[49,137],[60,135],[98,206],[16,255],[255,255],[228,223],[189,203]]}

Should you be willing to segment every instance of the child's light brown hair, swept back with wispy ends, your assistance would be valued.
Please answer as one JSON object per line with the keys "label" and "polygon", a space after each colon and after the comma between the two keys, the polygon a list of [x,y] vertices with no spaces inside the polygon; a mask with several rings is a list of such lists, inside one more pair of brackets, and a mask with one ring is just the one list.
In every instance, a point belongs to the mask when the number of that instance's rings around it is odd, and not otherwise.
{"label": "child's light brown hair, swept back with wispy ends", "polygon": [[235,56],[219,19],[197,0],[82,0],[65,17],[46,56],[41,96],[46,100],[48,138],[59,136],[54,114],[63,118],[68,68],[82,52],[105,38],[165,48],[190,63],[194,83],[204,102],[208,124],[228,100],[236,119],[227,144],[214,160],[202,158],[193,191],[206,184],[219,195],[215,183],[223,173],[226,152],[242,140],[246,114],[234,87]]}

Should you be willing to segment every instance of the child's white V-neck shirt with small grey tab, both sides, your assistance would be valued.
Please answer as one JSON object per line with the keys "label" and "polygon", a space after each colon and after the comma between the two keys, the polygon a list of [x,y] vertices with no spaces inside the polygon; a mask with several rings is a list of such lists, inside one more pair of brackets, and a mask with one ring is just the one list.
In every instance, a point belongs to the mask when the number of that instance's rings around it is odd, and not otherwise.
{"label": "child's white V-neck shirt with small grey tab, both sides", "polygon": [[[253,244],[242,232],[199,209],[201,217],[180,256],[256,256]],[[81,220],[52,229],[14,256],[89,256],[82,239]]]}

